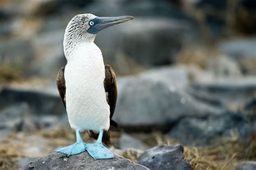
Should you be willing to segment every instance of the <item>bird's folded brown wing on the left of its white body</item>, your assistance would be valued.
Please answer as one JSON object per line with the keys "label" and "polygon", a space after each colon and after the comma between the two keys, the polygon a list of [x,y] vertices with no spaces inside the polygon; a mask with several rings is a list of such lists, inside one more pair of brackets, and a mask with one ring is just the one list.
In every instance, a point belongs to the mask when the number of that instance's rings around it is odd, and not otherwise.
{"label": "bird's folded brown wing on the left of its white body", "polygon": [[64,71],[65,67],[60,68],[58,74],[57,74],[57,88],[59,90],[59,95],[62,97],[62,102],[64,106],[66,107],[66,83],[65,83],[65,77],[64,77]]}

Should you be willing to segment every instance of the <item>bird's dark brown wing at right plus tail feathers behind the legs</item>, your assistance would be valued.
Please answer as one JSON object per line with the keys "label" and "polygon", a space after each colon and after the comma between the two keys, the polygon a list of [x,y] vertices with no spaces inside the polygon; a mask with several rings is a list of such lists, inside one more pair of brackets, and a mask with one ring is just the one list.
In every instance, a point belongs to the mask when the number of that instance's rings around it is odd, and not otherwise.
{"label": "bird's dark brown wing at right plus tail feathers behind the legs", "polygon": [[[104,80],[104,88],[106,92],[106,100],[107,103],[110,105],[110,125],[117,127],[117,123],[112,120],[114,109],[116,109],[116,103],[117,103],[117,79],[116,75],[114,74],[114,70],[110,65],[105,65],[105,80]],[[89,135],[97,139],[98,134],[93,131],[88,131]],[[103,133],[103,143],[110,147],[111,141],[110,141],[110,132],[104,131]]]}

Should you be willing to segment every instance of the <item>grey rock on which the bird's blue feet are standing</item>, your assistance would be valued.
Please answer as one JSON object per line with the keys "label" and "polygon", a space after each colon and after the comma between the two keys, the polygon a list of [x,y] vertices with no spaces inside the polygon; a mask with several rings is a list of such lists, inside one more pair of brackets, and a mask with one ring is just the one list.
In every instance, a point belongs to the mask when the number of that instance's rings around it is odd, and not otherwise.
{"label": "grey rock on which the bird's blue feet are standing", "polygon": [[52,154],[39,158],[23,166],[21,169],[148,169],[143,165],[114,155],[113,159],[94,160],[87,152],[71,155],[69,158],[63,153]]}

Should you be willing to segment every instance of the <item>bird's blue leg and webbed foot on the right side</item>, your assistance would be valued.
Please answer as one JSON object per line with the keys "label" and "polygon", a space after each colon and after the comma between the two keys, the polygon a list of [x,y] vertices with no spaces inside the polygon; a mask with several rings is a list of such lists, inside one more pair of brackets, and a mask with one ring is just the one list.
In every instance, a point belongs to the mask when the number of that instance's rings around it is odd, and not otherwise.
{"label": "bird's blue leg and webbed foot on the right side", "polygon": [[103,132],[104,130],[100,130],[96,143],[86,144],[86,151],[94,159],[109,159],[114,157],[113,153],[102,144]]}

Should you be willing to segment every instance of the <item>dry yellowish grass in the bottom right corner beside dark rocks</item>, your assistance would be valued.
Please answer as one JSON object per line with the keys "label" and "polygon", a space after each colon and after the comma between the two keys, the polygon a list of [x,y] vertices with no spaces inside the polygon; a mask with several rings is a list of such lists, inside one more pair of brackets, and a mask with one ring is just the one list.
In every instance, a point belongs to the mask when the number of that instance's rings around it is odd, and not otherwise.
{"label": "dry yellowish grass in the bottom right corner beside dark rocks", "polygon": [[[158,140],[159,144],[177,144],[168,137]],[[221,138],[211,146],[185,146],[184,155],[194,169],[235,169],[242,161],[256,160],[256,134],[247,145],[234,137]]]}

